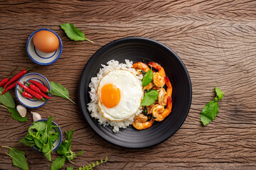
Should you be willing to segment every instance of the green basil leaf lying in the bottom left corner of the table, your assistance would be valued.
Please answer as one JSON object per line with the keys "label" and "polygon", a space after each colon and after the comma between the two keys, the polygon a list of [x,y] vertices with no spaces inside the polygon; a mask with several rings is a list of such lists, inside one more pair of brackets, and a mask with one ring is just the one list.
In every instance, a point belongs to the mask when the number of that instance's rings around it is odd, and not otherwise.
{"label": "green basil leaf lying in the bottom left corner of the table", "polygon": [[[6,146],[2,146],[6,147]],[[9,157],[11,157],[11,160],[14,164],[14,166],[17,166],[20,169],[28,170],[28,164],[26,162],[25,152],[19,151],[18,149],[15,149],[14,147],[6,147],[9,148]],[[7,153],[6,153],[7,154]]]}

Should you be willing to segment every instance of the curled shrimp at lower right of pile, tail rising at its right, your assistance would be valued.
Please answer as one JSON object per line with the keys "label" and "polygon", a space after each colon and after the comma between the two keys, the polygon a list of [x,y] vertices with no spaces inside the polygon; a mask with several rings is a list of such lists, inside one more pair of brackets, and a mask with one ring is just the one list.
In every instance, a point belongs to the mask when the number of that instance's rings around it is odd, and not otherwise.
{"label": "curled shrimp at lower right of pile, tail rising at its right", "polygon": [[162,121],[164,118],[167,117],[171,113],[172,108],[172,100],[171,97],[167,98],[167,107],[164,109],[164,106],[155,105],[153,108],[151,108],[151,113],[155,117],[156,121]]}

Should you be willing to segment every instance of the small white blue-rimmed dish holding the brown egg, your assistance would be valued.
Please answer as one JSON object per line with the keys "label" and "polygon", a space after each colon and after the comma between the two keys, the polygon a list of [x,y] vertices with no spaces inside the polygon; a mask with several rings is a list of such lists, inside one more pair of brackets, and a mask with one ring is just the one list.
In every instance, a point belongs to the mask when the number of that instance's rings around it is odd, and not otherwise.
{"label": "small white blue-rimmed dish holding the brown egg", "polygon": [[[54,33],[57,36],[58,40],[60,41],[60,45],[58,49],[55,50],[55,52],[51,52],[51,53],[41,52],[38,49],[36,49],[35,45],[33,45],[33,35],[35,35],[35,33],[37,33],[40,30],[49,30],[50,32]],[[60,39],[60,36],[57,33],[55,33],[53,30],[42,28],[42,29],[36,30],[29,36],[26,44],[26,49],[28,52],[28,56],[31,58],[33,62],[36,62],[36,64],[40,64],[40,65],[49,65],[49,64],[53,64],[53,62],[56,62],[60,57],[61,52],[63,50],[63,43]]]}

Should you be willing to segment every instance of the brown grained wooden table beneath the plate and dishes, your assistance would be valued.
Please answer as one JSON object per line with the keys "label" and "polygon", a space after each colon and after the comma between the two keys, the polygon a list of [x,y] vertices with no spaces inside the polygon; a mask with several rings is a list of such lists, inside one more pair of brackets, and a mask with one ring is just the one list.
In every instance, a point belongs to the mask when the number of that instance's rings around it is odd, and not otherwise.
{"label": "brown grained wooden table beneath the plate and dishes", "polygon": [[[109,162],[97,169],[256,169],[255,7],[250,0],[1,1],[0,79],[15,67],[16,72],[36,67],[33,72],[63,84],[78,103],[82,69],[102,45],[128,36],[158,40],[181,57],[193,85],[188,117],[169,140],[147,149],[111,145],[87,125],[78,104],[58,97],[28,111],[54,115],[63,132],[74,130],[73,151],[85,150],[73,160],[76,168],[107,156]],[[69,40],[60,23],[73,23],[95,44]],[[35,64],[26,53],[28,36],[39,28],[50,28],[63,40],[60,59],[48,66]],[[213,100],[215,86],[225,96],[215,120],[203,127],[200,113]],[[26,152],[30,169],[49,169],[43,154],[18,143],[33,121],[31,114],[19,123],[6,109],[0,113],[0,145]],[[0,169],[17,169],[4,152],[1,148]]]}

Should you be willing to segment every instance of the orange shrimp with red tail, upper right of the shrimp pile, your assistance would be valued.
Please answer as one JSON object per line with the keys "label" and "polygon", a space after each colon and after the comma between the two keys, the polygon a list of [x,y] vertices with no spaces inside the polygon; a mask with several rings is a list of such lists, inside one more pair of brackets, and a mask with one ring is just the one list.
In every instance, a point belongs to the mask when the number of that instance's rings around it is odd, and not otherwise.
{"label": "orange shrimp with red tail, upper right of the shrimp pile", "polygon": [[158,72],[154,72],[153,74],[153,83],[157,87],[162,87],[165,84],[164,77],[166,77],[166,74],[164,72],[164,68],[161,67],[160,64],[157,64],[156,62],[149,62],[149,66],[154,67],[155,69],[158,69]]}

